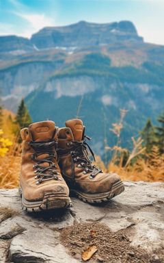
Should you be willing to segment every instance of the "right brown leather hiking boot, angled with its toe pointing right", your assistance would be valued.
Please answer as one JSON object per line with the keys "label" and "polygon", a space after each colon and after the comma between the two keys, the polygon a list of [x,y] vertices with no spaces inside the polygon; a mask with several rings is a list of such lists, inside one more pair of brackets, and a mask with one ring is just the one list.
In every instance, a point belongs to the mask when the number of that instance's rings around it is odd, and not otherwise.
{"label": "right brown leather hiking boot, angled with its toe pointing right", "polygon": [[120,177],[115,173],[102,173],[88,158],[84,135],[85,127],[79,119],[66,121],[66,127],[58,130],[58,163],[71,191],[85,202],[100,203],[124,191]]}

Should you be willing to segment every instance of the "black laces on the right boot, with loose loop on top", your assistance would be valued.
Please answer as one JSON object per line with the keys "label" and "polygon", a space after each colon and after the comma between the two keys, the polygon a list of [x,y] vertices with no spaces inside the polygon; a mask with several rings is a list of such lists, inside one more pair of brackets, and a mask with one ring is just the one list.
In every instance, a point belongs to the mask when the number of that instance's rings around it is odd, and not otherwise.
{"label": "black laces on the right boot, with loose loop on top", "polygon": [[86,140],[91,140],[90,137],[84,136],[84,139],[81,142],[72,141],[72,151],[70,152],[72,155],[72,159],[74,162],[78,162],[78,167],[83,167],[83,174],[91,173],[90,179],[93,179],[98,175],[98,173],[102,173],[102,171],[97,168],[94,164],[92,164],[92,160],[88,158],[89,153],[91,153],[94,158],[94,152],[92,151],[90,145],[87,144]]}

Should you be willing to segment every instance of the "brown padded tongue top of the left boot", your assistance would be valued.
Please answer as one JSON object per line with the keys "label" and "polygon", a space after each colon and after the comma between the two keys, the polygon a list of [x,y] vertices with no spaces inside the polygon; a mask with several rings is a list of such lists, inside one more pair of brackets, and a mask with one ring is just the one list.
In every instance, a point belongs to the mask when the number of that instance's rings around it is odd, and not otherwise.
{"label": "brown padded tongue top of the left boot", "polygon": [[40,121],[29,125],[29,132],[33,141],[51,140],[55,133],[55,123],[53,121]]}

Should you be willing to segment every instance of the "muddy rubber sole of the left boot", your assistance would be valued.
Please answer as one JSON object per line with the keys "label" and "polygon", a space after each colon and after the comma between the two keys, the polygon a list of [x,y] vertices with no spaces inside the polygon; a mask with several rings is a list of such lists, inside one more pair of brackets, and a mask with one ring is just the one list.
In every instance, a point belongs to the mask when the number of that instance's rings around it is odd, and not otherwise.
{"label": "muddy rubber sole of the left boot", "polygon": [[51,210],[59,208],[68,208],[72,206],[70,197],[56,194],[45,194],[43,199],[40,201],[27,201],[23,197],[23,192],[19,188],[20,197],[22,198],[23,210],[28,212],[39,212],[42,210]]}

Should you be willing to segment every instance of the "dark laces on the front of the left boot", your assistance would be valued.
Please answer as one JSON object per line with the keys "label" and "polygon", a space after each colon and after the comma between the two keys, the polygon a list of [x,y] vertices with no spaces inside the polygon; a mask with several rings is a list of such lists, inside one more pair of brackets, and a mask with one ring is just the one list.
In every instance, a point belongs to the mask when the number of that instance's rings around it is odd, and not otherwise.
{"label": "dark laces on the front of the left boot", "polygon": [[[57,142],[55,140],[42,140],[38,142],[29,142],[29,145],[33,148],[35,153],[31,155],[31,160],[35,161],[36,164],[33,165],[33,169],[36,169],[34,173],[36,173],[35,179],[36,184],[41,184],[42,181],[48,181],[51,179],[61,180],[57,173],[57,165],[53,162],[56,158],[55,147],[57,146]],[[46,158],[38,159],[38,156],[42,154],[47,154]],[[48,163],[49,166],[45,167],[41,164]]]}

